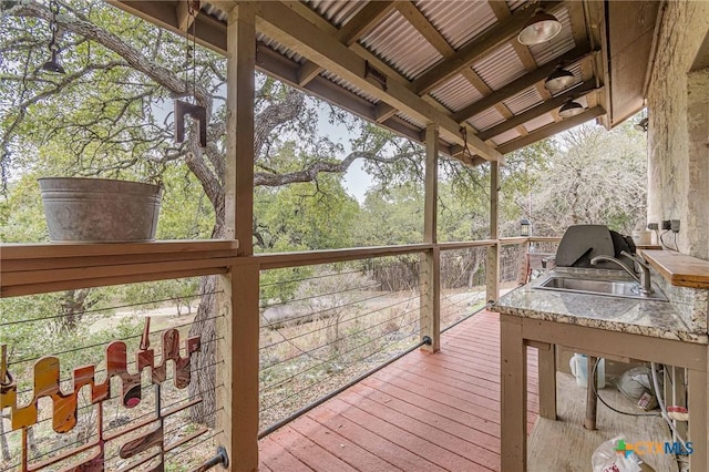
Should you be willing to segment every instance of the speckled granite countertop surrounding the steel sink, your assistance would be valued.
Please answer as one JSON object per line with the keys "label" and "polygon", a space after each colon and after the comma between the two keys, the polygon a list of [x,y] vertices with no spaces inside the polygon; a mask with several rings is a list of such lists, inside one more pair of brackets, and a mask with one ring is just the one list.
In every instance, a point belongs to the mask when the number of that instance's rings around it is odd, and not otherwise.
{"label": "speckled granite countertop surrounding the steel sink", "polygon": [[[554,274],[554,271],[548,273],[549,276]],[[568,274],[563,274],[563,276],[568,277]],[[608,279],[609,277],[584,274],[583,278]],[[492,309],[522,318],[700,345],[709,343],[707,334],[690,330],[669,301],[534,288],[541,281],[542,279],[537,279],[505,294],[493,305]]]}

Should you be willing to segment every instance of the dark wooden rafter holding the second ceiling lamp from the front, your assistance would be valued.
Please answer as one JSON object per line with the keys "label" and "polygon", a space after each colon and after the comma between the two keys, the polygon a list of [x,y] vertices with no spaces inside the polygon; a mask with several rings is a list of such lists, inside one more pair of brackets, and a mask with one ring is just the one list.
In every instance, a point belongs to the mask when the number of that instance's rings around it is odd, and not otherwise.
{"label": "dark wooden rafter holding the second ceiling lamp from the front", "polygon": [[547,62],[537,70],[521,76],[520,79],[508,83],[507,85],[479,100],[477,102],[464,107],[459,112],[453,113],[452,117],[459,123],[464,122],[465,120],[475,116],[477,113],[484,112],[489,107],[494,106],[495,103],[503,102],[511,96],[514,96],[517,93],[522,92],[523,90],[533,86],[537,82],[545,80],[552,72],[554,72],[554,69],[556,69],[556,65],[559,62],[564,62],[566,64],[578,62],[589,53],[590,49],[588,48],[588,45],[577,47],[572,51],[565,53],[557,60]]}

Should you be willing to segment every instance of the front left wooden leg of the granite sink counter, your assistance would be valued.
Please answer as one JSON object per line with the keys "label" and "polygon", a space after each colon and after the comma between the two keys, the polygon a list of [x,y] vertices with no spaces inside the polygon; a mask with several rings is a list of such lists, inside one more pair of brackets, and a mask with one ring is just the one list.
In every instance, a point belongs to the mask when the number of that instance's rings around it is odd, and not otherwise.
{"label": "front left wooden leg of the granite sink counter", "polygon": [[500,315],[501,396],[504,472],[527,470],[527,347],[522,319]]}

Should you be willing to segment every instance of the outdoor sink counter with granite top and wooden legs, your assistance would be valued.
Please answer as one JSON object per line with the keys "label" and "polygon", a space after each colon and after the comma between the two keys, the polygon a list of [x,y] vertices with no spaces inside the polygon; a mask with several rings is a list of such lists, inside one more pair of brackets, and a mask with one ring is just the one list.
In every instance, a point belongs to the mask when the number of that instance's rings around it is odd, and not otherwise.
{"label": "outdoor sink counter with granite top and wooden legs", "polygon": [[[617,274],[615,278],[603,273],[574,275],[582,279],[618,280]],[[542,281],[507,293],[492,307],[500,312],[501,441],[505,445],[502,470],[527,470],[527,350],[537,351],[540,417],[559,420],[555,346],[565,346],[594,357],[637,359],[684,369],[688,437],[693,447],[689,466],[709,471],[706,330],[688,325],[670,301],[534,288]],[[588,289],[592,285],[575,284]],[[634,291],[629,294],[635,296]]]}

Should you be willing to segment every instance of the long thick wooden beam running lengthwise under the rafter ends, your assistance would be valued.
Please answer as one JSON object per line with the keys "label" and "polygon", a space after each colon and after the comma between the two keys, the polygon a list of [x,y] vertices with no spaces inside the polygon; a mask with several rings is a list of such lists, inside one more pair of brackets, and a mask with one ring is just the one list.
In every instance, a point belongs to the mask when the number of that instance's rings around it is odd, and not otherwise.
{"label": "long thick wooden beam running lengthwise under the rafter ends", "polygon": [[[371,78],[364,59],[302,17],[292,14],[292,11],[282,3],[259,2],[257,9],[256,27],[268,38],[332,71],[352,85],[401,110],[414,120],[436,123],[444,140],[451,143],[463,142],[460,125],[450,115],[424,102],[405,84],[389,80],[389,76],[381,71],[379,71],[381,82]],[[487,160],[496,161],[501,157],[494,147],[476,138],[474,131],[467,127],[471,147]]]}

